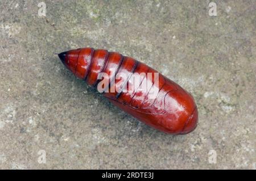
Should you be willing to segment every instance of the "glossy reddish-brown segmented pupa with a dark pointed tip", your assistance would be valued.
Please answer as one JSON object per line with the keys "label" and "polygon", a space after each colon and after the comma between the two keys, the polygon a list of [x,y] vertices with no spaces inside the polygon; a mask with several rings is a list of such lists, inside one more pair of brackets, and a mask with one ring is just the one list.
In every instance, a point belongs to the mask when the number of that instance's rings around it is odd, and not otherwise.
{"label": "glossy reddish-brown segmented pupa with a dark pointed tip", "polygon": [[[134,58],[93,48],[69,50],[60,53],[59,57],[76,77],[90,86],[99,85],[102,81],[98,79],[100,74],[108,75],[103,78],[108,82],[108,86],[102,87],[104,96],[143,123],[170,134],[185,134],[196,128],[198,113],[192,96],[175,82]],[[137,73],[141,76],[137,77]],[[120,75],[119,78],[117,75]],[[130,86],[133,87],[132,91],[127,91],[129,85],[133,85],[130,84],[132,79],[139,80],[139,84]],[[146,85],[146,91],[142,85]],[[154,99],[150,98],[152,90],[156,92]]]}

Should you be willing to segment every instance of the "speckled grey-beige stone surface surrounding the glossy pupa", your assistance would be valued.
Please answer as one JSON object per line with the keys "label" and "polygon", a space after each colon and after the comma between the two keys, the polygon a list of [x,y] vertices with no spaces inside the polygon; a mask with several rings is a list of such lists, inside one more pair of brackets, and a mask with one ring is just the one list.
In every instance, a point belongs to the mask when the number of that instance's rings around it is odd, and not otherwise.
{"label": "speckled grey-beige stone surface surrounding the glossy pupa", "polygon": [[[39,2],[0,1],[1,169],[256,168],[255,0],[214,0],[217,16],[203,0],[44,1],[46,16]],[[197,129],[171,136],[112,106],[55,54],[80,47],[179,83],[196,99]]]}

